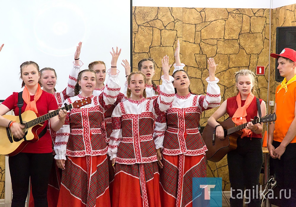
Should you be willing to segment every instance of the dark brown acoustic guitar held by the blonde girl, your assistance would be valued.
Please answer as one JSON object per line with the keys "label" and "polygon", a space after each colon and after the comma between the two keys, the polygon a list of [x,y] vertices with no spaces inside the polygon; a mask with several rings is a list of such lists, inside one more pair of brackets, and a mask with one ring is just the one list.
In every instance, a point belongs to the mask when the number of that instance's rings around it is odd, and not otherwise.
{"label": "dark brown acoustic guitar held by the blonde girl", "polygon": [[[276,114],[269,114],[262,118],[255,117],[253,124],[267,123],[276,121]],[[212,162],[219,162],[222,158],[231,150],[237,148],[237,139],[242,135],[242,129],[246,128],[247,123],[237,126],[231,118],[227,118],[225,121],[217,121],[224,129],[225,139],[216,139],[215,127],[211,127],[209,124],[205,126],[202,132],[202,139],[207,146],[206,157],[207,160]]]}

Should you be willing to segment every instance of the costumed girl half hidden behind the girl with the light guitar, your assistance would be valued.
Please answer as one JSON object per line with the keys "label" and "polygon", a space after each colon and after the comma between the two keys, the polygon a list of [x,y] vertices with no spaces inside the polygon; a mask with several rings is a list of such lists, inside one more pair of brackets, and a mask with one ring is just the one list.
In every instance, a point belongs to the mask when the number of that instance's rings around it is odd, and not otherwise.
{"label": "costumed girl half hidden behind the girl with the light guitar", "polygon": [[[81,44],[80,42],[77,46],[74,59],[75,57],[80,54],[81,51]],[[75,60],[75,65],[79,64],[79,60]],[[75,67],[70,72],[70,76],[75,74]],[[77,78],[77,77],[76,77]],[[66,88],[62,92],[57,92],[54,88],[57,83],[57,73],[53,68],[43,68],[40,70],[40,83],[42,86],[42,89],[50,94],[53,94],[55,99],[57,100],[58,107],[62,107],[62,104],[65,102],[69,96],[66,94]],[[73,91],[74,92],[74,91]],[[73,93],[74,95],[74,93]],[[65,125],[64,125],[65,126]],[[50,122],[48,125],[49,133],[52,137],[52,154],[53,157],[55,156],[55,152],[53,150],[55,145],[55,139],[57,134],[64,133],[65,127],[62,126],[59,131],[54,131],[50,127]],[[52,163],[52,169],[50,171],[49,175],[49,183],[48,183],[48,189],[47,189],[47,202],[48,206],[57,206],[57,201],[59,198],[59,189],[61,185],[61,179],[62,179],[62,170],[57,167],[56,160],[53,158]],[[34,199],[32,197],[32,191],[30,192],[30,200],[29,200],[29,206],[34,206]]]}

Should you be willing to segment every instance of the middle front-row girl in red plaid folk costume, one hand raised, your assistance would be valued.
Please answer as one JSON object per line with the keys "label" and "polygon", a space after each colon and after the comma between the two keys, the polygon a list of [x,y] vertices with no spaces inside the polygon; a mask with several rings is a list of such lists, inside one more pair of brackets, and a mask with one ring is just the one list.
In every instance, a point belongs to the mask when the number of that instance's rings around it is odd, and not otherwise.
{"label": "middle front-row girl in red plaid folk costume, one hand raised", "polygon": [[108,148],[112,163],[116,163],[112,206],[160,206],[152,132],[155,117],[165,111],[174,98],[168,57],[164,57],[162,63],[164,76],[159,97],[145,99],[145,75],[131,73],[127,92],[130,98],[120,102],[112,113],[113,132]]}

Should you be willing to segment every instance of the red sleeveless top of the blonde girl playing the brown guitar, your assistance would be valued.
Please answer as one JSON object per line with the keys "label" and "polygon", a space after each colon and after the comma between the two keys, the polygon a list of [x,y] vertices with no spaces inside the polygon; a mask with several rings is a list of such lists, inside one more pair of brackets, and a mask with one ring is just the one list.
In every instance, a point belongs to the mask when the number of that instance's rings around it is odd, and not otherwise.
{"label": "red sleeveless top of the blonde girl playing the brown guitar", "polygon": [[[241,106],[244,105],[244,103],[246,102],[246,100],[242,100],[242,104]],[[262,99],[259,99],[259,102],[261,104]],[[231,97],[227,99],[227,105],[226,105],[226,111],[227,114],[229,115],[229,117],[232,117],[234,115],[234,113],[236,112],[238,106],[237,106],[237,97]],[[254,99],[252,100],[251,104],[249,105],[249,107],[247,108],[247,116],[246,116],[246,120],[247,122],[251,121],[251,119],[254,119],[254,116],[257,116],[257,101],[256,101],[256,97],[254,97]],[[249,134],[247,137],[256,137],[256,138],[262,138],[262,134]]]}

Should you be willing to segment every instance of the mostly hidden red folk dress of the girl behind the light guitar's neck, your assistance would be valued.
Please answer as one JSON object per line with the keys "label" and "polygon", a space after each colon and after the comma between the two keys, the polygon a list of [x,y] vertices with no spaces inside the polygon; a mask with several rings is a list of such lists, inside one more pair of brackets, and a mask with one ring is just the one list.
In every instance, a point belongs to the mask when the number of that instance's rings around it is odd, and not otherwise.
{"label": "mostly hidden red folk dress of the girl behind the light guitar's neck", "polygon": [[[81,62],[81,61],[80,61]],[[74,62],[73,62],[74,63]],[[68,80],[68,87],[73,81],[76,81],[78,73],[80,71],[80,67],[83,65],[81,62],[81,65],[73,65],[73,69],[70,71],[69,80]],[[62,104],[65,102],[67,98],[70,96],[74,96],[74,88],[68,89],[69,95],[67,95],[67,88],[65,88],[62,92],[54,92],[53,95],[55,99],[57,100],[58,107],[62,107]],[[54,131],[50,127],[50,121],[49,126],[47,127],[47,130],[49,131],[51,137],[52,137],[52,154],[55,156],[54,152],[54,145],[55,145],[55,139],[57,137],[57,134],[60,136],[62,133],[64,133],[64,126],[59,131]],[[56,160],[53,159],[52,162],[52,169],[49,174],[49,182],[48,182],[48,188],[47,188],[47,202],[49,207],[56,207],[57,201],[59,199],[59,189],[61,185],[61,179],[62,179],[62,170],[57,167]],[[30,199],[29,199],[29,207],[34,206],[34,199],[32,195],[32,190],[30,190]]]}

